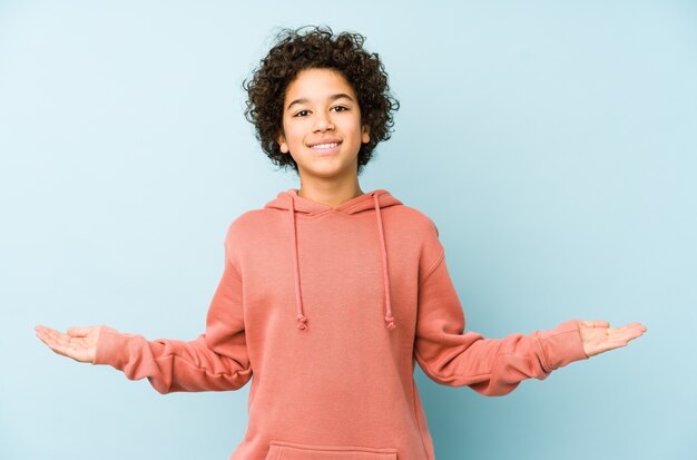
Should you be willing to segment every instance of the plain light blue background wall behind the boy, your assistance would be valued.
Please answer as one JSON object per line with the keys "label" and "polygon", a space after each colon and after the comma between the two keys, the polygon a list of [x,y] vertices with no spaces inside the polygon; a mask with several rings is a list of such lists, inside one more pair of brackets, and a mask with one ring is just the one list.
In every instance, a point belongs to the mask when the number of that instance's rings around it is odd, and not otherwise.
{"label": "plain light blue background wall behind the boy", "polygon": [[645,323],[504,398],[421,389],[439,460],[697,449],[694,1],[0,1],[0,458],[226,459],[238,392],[163,397],[35,324],[192,340],[227,225],[297,186],[242,81],[278,27],[355,30],[402,104],[361,176],[439,226],[468,329]]}

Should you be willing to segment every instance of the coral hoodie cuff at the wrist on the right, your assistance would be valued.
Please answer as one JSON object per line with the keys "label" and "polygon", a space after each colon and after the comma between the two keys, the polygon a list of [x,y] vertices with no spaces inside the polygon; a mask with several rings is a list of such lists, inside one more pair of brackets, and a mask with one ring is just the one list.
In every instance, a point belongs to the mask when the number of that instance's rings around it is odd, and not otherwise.
{"label": "coral hoodie cuff at the wrist on the right", "polygon": [[577,320],[569,320],[554,329],[538,332],[542,348],[544,371],[551,372],[573,361],[587,360]]}

